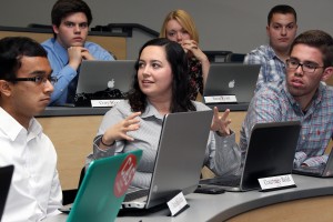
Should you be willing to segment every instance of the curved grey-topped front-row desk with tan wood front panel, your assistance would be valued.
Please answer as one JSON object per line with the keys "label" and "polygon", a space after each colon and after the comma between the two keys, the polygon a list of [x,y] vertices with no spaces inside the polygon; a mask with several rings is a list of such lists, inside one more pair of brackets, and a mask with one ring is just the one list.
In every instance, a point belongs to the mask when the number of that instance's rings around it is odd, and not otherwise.
{"label": "curved grey-topped front-row desk with tan wood front panel", "polygon": [[[118,222],[275,222],[275,221],[333,221],[333,179],[293,175],[297,188],[271,192],[225,192],[223,194],[186,195],[190,205],[176,216],[158,211],[144,216],[120,216]],[[67,214],[49,218],[46,222],[65,221]]]}

